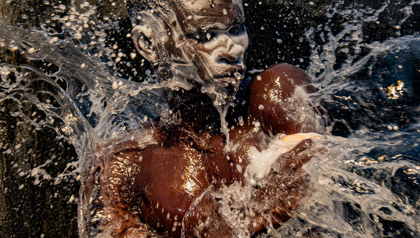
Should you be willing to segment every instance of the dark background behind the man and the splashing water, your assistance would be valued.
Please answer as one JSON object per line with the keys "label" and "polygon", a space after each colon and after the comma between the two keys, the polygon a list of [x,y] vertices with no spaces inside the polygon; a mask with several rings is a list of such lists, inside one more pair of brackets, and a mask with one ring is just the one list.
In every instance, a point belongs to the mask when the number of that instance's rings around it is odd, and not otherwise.
{"label": "dark background behind the man and the splashing water", "polygon": [[[60,22],[51,20],[51,17],[53,14],[60,13],[60,4],[68,6],[70,2],[70,0],[0,0],[0,21],[6,25],[20,26],[26,29],[44,29],[60,35],[62,25]],[[113,2],[116,4],[111,5]],[[388,7],[378,15],[379,24],[376,21],[362,22],[364,42],[384,41],[399,35],[418,34],[420,5],[412,6],[412,15],[401,24],[401,29],[396,31],[395,25],[404,17],[404,12],[400,11],[401,6],[406,6],[411,1],[392,0],[388,2]],[[82,1],[76,1],[76,6],[80,3]],[[314,2],[306,0],[247,0],[244,3],[247,4],[244,9],[250,42],[246,55],[249,70],[263,69],[280,62],[291,63],[306,69],[310,63],[311,48],[310,42],[305,37],[305,32],[313,28],[317,34],[322,32],[325,32],[325,35],[328,32],[336,34],[343,29],[344,23],[354,19],[353,15],[356,14],[354,10],[379,9],[384,4],[373,0],[318,0]],[[131,23],[126,13],[125,3],[121,0],[94,0],[90,4],[97,5],[98,18],[109,16],[112,21],[110,27],[106,29],[107,46],[118,44],[120,46],[118,50],[129,55],[133,51],[134,45],[126,37],[126,34],[131,32]],[[348,12],[349,16],[334,14],[328,17],[325,13],[333,8],[339,12]],[[61,34],[61,36],[66,37],[66,34]],[[322,37],[315,37],[314,40],[317,44],[323,44]],[[419,49],[417,48],[417,50]],[[362,52],[361,55],[363,53],[365,52]],[[336,64],[339,67],[344,55],[337,52],[336,57]],[[404,65],[404,67],[412,69],[412,74],[407,76],[409,77],[407,80],[410,80],[410,77],[418,77],[416,69],[420,68],[418,54],[412,57],[415,62],[409,61]],[[130,61],[131,66],[117,64],[117,72],[124,78],[141,81],[140,77],[144,78],[144,71],[149,69],[150,65],[145,63],[142,66],[140,60],[140,58],[131,60],[127,57],[126,62]],[[45,64],[42,60],[28,61],[17,52],[11,52],[5,47],[0,48],[0,62],[14,65],[28,64],[41,71],[46,70],[42,66]],[[386,62],[377,64],[380,64],[379,66],[382,68],[386,66]],[[391,68],[392,64],[386,67]],[[138,74],[134,76],[129,68],[136,68]],[[386,72],[389,73],[389,71]],[[357,84],[360,77],[366,77],[366,73],[361,71],[358,76],[349,77],[346,80],[354,81]],[[415,88],[414,82],[407,86]],[[361,84],[362,82],[355,87]],[[363,84],[365,85],[365,83]],[[343,95],[347,95],[350,89],[345,90],[345,92],[341,92]],[[370,94],[357,100],[369,104],[369,100],[373,100],[375,95]],[[419,102],[417,99],[416,96],[412,100],[404,102],[404,105],[414,107]],[[342,107],[339,106],[340,103],[351,104],[351,102],[332,102],[332,100],[324,102],[331,121],[346,119],[346,123],[336,123],[336,128],[333,129],[333,133],[340,136],[346,136],[349,131],[357,129],[360,125],[368,124],[366,118],[352,115],[363,115],[363,113],[375,110],[368,107],[342,110]],[[414,120],[412,118],[417,116],[414,113],[408,115],[409,111],[407,110],[405,110],[407,113],[402,115],[403,112],[398,109],[398,106],[401,105],[391,108],[394,110],[392,113],[399,113],[397,116],[390,115],[389,120],[378,119],[373,123],[383,124],[388,120],[388,123],[392,121],[403,126],[404,123],[407,123],[406,118],[411,118],[412,121]],[[387,105],[378,107],[387,107]],[[24,108],[28,113],[35,110],[33,105],[26,105]],[[13,102],[7,100],[0,102],[0,146],[3,148],[0,151],[0,237],[77,237],[76,201],[79,183],[75,178],[69,178],[58,185],[52,185],[51,180],[43,180],[40,184],[34,185],[34,178],[30,175],[30,170],[33,167],[44,163],[52,156],[55,157],[55,163],[47,165],[47,169],[52,172],[62,171],[67,162],[75,159],[74,148],[64,139],[57,139],[58,135],[50,128],[35,129],[30,123],[18,123],[18,119],[10,115],[10,112],[15,109],[16,105]],[[22,144],[20,149],[11,154],[3,152],[18,143]],[[76,199],[69,202],[71,196]]]}

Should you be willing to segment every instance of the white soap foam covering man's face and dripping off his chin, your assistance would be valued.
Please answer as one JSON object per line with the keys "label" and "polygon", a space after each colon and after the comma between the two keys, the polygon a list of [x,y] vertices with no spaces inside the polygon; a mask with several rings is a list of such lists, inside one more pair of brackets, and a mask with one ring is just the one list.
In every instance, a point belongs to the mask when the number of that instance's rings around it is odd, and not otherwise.
{"label": "white soap foam covering man's face and dripping off his chin", "polygon": [[[152,28],[152,41],[159,42],[155,44],[155,50],[164,61],[159,67],[165,65],[171,72],[165,86],[189,90],[198,84],[203,93],[213,98],[226,136],[226,152],[229,152],[231,141],[225,117],[228,102],[233,99],[244,73],[236,73],[236,80],[230,82],[218,82],[215,78],[227,76],[226,71],[232,66],[237,71],[245,71],[246,30],[230,33],[232,27],[244,21],[242,3],[240,0],[213,1],[212,5],[207,0],[184,0],[182,3],[182,9],[163,2],[162,8],[143,11],[138,23]],[[199,32],[204,32],[208,40],[198,42],[191,36]],[[230,55],[236,60],[231,62],[221,55]],[[163,71],[167,69],[158,68],[157,74]],[[161,78],[166,79],[165,76]]]}

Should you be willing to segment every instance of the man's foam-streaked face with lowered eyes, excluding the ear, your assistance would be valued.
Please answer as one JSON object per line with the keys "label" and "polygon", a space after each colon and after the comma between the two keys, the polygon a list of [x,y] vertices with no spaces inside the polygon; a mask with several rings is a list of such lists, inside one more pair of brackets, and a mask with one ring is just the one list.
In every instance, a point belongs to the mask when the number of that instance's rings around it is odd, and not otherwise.
{"label": "man's foam-streaked face with lowered eyes, excluding the ear", "polygon": [[[234,95],[245,71],[248,35],[240,0],[178,0],[166,14],[159,58],[169,63],[173,80],[202,92]],[[162,25],[160,26],[162,31]],[[153,31],[153,29],[152,29]]]}

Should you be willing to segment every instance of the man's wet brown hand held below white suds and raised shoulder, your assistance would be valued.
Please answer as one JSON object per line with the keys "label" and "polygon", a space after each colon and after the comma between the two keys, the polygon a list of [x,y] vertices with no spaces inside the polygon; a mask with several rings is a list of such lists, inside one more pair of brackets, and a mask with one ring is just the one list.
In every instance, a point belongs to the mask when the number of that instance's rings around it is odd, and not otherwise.
{"label": "man's wet brown hand held below white suds and raised shoulder", "polygon": [[272,225],[279,227],[299,208],[299,200],[309,192],[307,174],[301,170],[312,158],[308,148],[312,139],[304,139],[272,165],[265,185],[257,188],[253,198],[254,211],[250,232],[257,233]]}

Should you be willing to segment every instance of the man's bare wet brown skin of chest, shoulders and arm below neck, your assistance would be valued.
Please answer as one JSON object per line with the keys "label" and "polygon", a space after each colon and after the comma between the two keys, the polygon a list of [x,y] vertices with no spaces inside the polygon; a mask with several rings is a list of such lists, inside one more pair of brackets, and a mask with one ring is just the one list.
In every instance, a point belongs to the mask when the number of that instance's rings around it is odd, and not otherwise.
{"label": "man's bare wet brown skin of chest, shoulders and arm below neck", "polygon": [[[181,222],[184,222],[186,237],[204,233],[207,237],[231,237],[231,228],[218,214],[219,205],[211,193],[236,181],[245,183],[250,147],[265,149],[267,139],[277,133],[310,132],[301,127],[302,122],[286,120],[286,117],[293,118],[293,112],[284,111],[278,103],[281,99],[294,107],[308,106],[299,98],[288,100],[297,86],[313,92],[306,73],[292,65],[277,64],[259,76],[261,80],[252,79],[243,98],[248,101],[246,110],[238,110],[244,112],[244,125],[236,125],[230,131],[237,147],[228,153],[229,159],[222,133],[199,130],[192,123],[174,127],[155,125],[151,133],[157,144],[139,146],[134,139],[114,146],[110,154],[104,155],[98,194],[104,203],[103,214],[108,215],[103,227],[121,221],[121,225],[115,225],[114,237],[147,236],[152,234],[151,230],[180,237]],[[260,105],[264,109],[261,110]],[[260,122],[259,127],[252,125],[256,120]],[[307,191],[300,167],[310,158],[304,154],[308,145],[310,141],[303,141],[289,154],[279,155],[277,163],[283,166],[270,172],[266,178],[269,185],[258,188],[250,201],[257,210],[249,217],[252,220],[247,228],[250,233],[267,227],[264,215],[271,214],[271,222],[276,227],[299,207],[299,197]],[[204,196],[196,201],[202,194]],[[208,225],[197,228],[208,219]]]}

